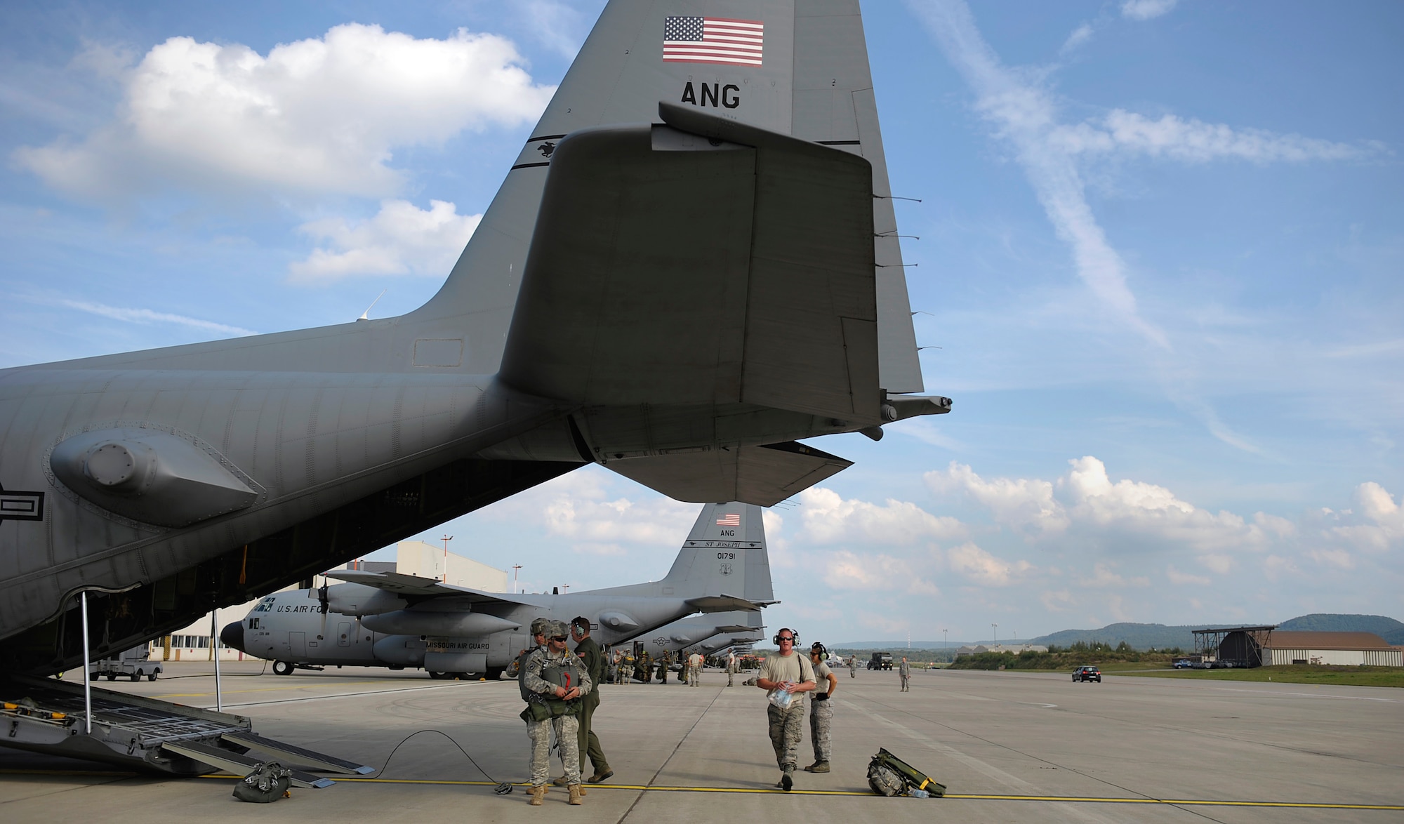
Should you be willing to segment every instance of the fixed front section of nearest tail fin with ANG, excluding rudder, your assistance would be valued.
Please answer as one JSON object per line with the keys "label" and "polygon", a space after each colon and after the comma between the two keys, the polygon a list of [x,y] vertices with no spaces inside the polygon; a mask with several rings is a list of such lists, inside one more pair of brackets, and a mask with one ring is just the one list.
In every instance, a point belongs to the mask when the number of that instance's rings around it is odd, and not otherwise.
{"label": "fixed front section of nearest tail fin with ANG, excluding rudder", "polygon": [[[720,24],[753,34],[733,36]],[[664,35],[694,36],[694,25],[702,27],[695,36],[722,32],[751,42],[709,56],[692,55],[703,60],[680,59],[687,55],[665,59]],[[411,317],[452,328],[453,337],[466,334],[465,369],[497,372],[560,139],[587,126],[656,124],[658,101],[691,104],[789,133],[793,42],[793,0],[611,0],[444,288]]]}

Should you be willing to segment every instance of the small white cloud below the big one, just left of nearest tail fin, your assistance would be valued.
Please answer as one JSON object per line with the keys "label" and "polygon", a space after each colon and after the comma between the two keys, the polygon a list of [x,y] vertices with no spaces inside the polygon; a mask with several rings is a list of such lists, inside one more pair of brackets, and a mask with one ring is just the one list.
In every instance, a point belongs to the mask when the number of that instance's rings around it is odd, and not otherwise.
{"label": "small white cloud below the big one, just left of nearest tail fin", "polygon": [[369,220],[326,218],[299,226],[299,232],[327,246],[314,248],[288,271],[295,281],[348,275],[442,278],[482,219],[482,215],[459,215],[453,204],[444,201],[430,201],[427,211],[409,201],[382,201],[380,211]]}

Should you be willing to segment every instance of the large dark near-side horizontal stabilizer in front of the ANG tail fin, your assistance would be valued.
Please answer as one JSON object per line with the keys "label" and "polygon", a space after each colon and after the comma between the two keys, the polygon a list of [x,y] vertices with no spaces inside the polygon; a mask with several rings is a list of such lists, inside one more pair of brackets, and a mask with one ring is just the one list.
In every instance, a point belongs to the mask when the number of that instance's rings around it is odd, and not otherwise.
{"label": "large dark near-side horizontal stabilizer in front of the ANG tail fin", "polygon": [[588,406],[880,423],[868,160],[658,111],[556,146],[500,378]]}

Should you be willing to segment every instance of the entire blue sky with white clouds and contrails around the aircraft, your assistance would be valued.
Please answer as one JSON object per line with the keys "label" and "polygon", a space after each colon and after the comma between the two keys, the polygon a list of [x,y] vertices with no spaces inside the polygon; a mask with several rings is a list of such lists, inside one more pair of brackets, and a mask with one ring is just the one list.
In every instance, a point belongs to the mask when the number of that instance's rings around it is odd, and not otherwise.
{"label": "entire blue sky with white clouds and contrails around the aircraft", "polygon": [[[418,306],[600,7],[7,4],[0,366]],[[955,411],[819,442],[858,463],[768,518],[768,623],[1398,618],[1404,8],[863,13]],[[588,588],[695,511],[588,467],[424,538]]]}

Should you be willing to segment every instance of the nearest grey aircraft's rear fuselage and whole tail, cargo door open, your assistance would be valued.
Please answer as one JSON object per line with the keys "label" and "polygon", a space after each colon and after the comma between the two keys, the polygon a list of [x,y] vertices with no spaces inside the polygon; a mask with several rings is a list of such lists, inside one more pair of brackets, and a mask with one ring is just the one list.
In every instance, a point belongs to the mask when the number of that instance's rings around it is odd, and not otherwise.
{"label": "nearest grey aircraft's rear fuselage and whole tail, cargo door open", "polygon": [[528,138],[409,314],[0,371],[0,667],[80,591],[125,649],[585,463],[769,505],[949,411],[856,0],[612,0]]}

